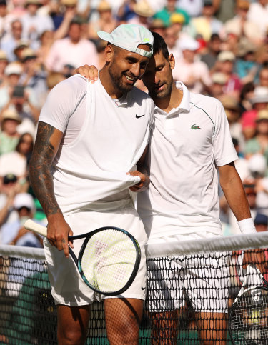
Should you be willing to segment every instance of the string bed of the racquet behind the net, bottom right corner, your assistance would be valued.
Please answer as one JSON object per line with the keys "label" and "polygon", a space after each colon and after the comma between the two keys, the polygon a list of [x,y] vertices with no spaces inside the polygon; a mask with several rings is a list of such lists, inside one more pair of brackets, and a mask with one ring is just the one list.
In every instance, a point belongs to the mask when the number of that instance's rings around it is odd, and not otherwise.
{"label": "string bed of the racquet behind the net, bottom right corner", "polygon": [[268,344],[268,290],[249,289],[231,312],[234,344]]}

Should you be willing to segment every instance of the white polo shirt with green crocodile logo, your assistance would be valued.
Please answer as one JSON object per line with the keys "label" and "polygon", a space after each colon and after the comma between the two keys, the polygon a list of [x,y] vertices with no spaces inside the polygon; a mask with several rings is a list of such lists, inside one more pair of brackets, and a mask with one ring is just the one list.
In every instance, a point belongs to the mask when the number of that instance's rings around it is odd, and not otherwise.
{"label": "white polo shirt with green crocodile logo", "polygon": [[137,196],[150,238],[210,231],[222,234],[217,166],[237,159],[222,104],[189,93],[181,82],[181,104],[154,109],[148,165],[151,184]]}

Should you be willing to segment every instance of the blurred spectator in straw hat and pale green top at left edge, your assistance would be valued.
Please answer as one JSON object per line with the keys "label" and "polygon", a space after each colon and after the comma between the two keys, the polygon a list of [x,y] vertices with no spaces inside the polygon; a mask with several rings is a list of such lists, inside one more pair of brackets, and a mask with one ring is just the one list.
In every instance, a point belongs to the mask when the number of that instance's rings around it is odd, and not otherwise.
{"label": "blurred spectator in straw hat and pale green top at left edge", "polygon": [[14,151],[19,142],[17,126],[21,124],[21,117],[14,109],[6,109],[1,114],[0,155]]}

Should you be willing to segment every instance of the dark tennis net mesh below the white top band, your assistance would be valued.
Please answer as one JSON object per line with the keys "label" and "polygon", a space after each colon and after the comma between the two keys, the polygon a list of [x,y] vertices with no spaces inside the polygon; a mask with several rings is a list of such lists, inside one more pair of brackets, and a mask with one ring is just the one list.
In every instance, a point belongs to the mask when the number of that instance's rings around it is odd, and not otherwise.
{"label": "dark tennis net mesh below the white top band", "polygon": [[[242,263],[258,262],[267,278],[266,248],[268,233],[187,241],[179,248],[148,246],[139,344],[232,344],[228,316],[244,277],[259,285],[259,276]],[[56,344],[56,308],[42,249],[0,246],[0,304],[0,344]],[[234,344],[249,344],[253,333]],[[108,344],[101,303],[91,307],[86,344]]]}

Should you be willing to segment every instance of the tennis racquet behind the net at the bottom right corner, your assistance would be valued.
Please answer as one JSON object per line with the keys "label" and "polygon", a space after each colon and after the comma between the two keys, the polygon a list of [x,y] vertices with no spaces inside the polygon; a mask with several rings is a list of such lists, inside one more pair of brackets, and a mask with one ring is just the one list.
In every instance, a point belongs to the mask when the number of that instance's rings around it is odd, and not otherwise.
{"label": "tennis racquet behind the net at the bottom right corner", "polygon": [[[254,285],[248,284],[249,275]],[[268,344],[268,283],[252,264],[229,313],[229,334],[232,344]]]}

